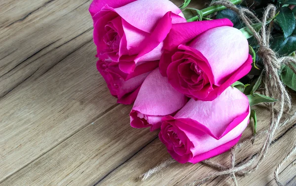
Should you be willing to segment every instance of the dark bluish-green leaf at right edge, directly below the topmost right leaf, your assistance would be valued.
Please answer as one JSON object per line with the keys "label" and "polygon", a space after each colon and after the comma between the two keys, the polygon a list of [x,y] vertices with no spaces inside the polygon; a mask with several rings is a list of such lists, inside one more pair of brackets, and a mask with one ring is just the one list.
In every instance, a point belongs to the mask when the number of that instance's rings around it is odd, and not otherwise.
{"label": "dark bluish-green leaf at right edge, directly below the topmost right leaf", "polygon": [[277,35],[273,37],[271,42],[270,48],[280,56],[289,55],[296,51],[296,36],[289,36],[285,39],[284,36]]}

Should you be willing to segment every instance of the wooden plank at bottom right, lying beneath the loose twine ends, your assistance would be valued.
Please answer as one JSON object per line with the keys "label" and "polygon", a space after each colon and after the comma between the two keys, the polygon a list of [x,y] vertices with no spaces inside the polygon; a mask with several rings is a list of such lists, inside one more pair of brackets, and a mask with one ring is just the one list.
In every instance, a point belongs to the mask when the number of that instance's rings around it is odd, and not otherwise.
{"label": "wooden plank at bottom right, lying beneath the loose twine ends", "polygon": [[[264,127],[266,128],[266,125],[269,121],[269,114],[267,109],[264,109],[263,107],[257,108],[258,113],[258,131],[262,131]],[[279,131],[279,133],[276,134],[275,138],[278,138],[277,141],[271,146],[270,152],[268,156],[273,157],[273,159],[266,158],[264,160],[265,164],[262,164],[262,166],[266,166],[266,164],[271,163],[273,166],[277,165],[281,161],[281,158],[285,156],[283,150],[287,150],[292,146],[292,141],[295,139],[292,137],[296,133],[296,128],[289,128],[291,126],[294,126],[295,119],[292,120],[290,123],[288,123],[287,128],[282,129]],[[242,139],[244,139],[247,136],[252,135],[253,127],[251,123],[249,127],[246,129],[246,131],[243,134]],[[289,132],[285,133],[286,130],[290,130]],[[281,136],[281,134],[285,133],[285,135]],[[254,144],[250,143],[247,144],[247,146],[244,149],[240,149],[238,151],[238,155],[236,157],[237,162],[242,161],[249,155],[254,155],[258,152],[259,147],[262,144],[262,141],[265,138],[258,138]],[[290,139],[290,141],[287,141]],[[295,141],[294,141],[295,142]],[[287,146],[284,146],[283,144],[287,143]],[[282,148],[281,151],[278,153],[277,150],[279,148]],[[279,155],[279,153],[281,153]],[[280,159],[277,159],[277,156],[280,156]],[[141,174],[148,171],[150,168],[156,166],[157,164],[161,163],[163,160],[170,158],[170,155],[166,152],[165,146],[159,141],[159,139],[155,139],[151,144],[149,144],[147,147],[145,147],[142,151],[137,153],[132,159],[115,169],[109,176],[107,176],[104,180],[102,180],[99,185],[102,186],[115,186],[115,185],[137,185],[137,186],[146,186],[146,185],[161,185],[161,186],[182,186],[187,183],[192,182],[193,180],[201,177],[201,176],[207,176],[212,171],[215,171],[213,168],[208,167],[206,165],[203,165],[202,163],[198,164],[191,164],[191,163],[173,163],[170,165],[169,168],[164,169],[161,171],[158,175],[154,175],[148,180],[142,182],[138,178],[141,176]],[[214,160],[219,161],[220,163],[224,165],[229,164],[229,154],[225,153],[220,156],[217,156],[214,158]],[[271,161],[272,160],[272,161]],[[269,167],[270,168],[270,167]],[[269,169],[269,171],[274,171],[273,169]],[[268,172],[270,173],[270,172]],[[258,172],[255,172],[254,175],[257,175]],[[266,173],[267,174],[267,173]],[[267,175],[260,175],[259,180],[262,178],[267,177]],[[253,174],[252,174],[253,175]],[[269,175],[269,176],[272,176]],[[293,177],[293,175],[291,175]],[[292,178],[290,177],[290,178]],[[248,177],[245,177],[246,180],[248,180]],[[240,180],[239,180],[240,181]],[[214,182],[207,182],[205,185],[222,185],[222,184],[231,184],[229,180],[221,180],[221,179],[215,179]],[[243,182],[243,181],[242,181]],[[264,182],[263,182],[264,183]],[[267,184],[267,182],[265,182]],[[245,184],[242,184],[244,186]],[[248,184],[249,185],[256,185],[256,182],[254,181]],[[260,184],[259,184],[260,185]]]}

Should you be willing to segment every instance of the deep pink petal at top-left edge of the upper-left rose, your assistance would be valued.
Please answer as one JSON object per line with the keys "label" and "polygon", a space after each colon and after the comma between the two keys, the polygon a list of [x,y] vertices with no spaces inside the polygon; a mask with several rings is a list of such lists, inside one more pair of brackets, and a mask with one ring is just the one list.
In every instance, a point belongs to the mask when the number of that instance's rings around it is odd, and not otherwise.
{"label": "deep pink petal at top-left edge of the upper-left rose", "polygon": [[94,16],[96,13],[100,12],[106,4],[113,8],[118,8],[133,1],[135,0],[93,0],[89,6],[88,11],[91,16]]}

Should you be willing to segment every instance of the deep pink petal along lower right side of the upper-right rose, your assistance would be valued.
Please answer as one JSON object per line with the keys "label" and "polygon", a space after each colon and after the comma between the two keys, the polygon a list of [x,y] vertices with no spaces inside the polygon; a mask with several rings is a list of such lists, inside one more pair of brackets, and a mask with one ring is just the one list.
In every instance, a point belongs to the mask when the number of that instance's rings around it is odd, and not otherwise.
{"label": "deep pink petal along lower right side of the upper-right rose", "polygon": [[216,86],[213,91],[211,91],[208,95],[207,98],[203,99],[203,101],[212,101],[217,98],[222,92],[229,87],[231,84],[233,84],[235,81],[243,78],[245,75],[247,75],[251,68],[252,68],[252,56],[249,55],[248,59],[246,62],[239,68],[237,69],[229,78],[226,80],[222,85]]}

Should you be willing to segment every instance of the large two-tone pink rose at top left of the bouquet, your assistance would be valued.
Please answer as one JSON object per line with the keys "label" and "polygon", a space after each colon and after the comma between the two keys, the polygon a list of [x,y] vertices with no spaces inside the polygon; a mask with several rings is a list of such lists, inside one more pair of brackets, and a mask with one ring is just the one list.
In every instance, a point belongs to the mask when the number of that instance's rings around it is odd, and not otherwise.
{"label": "large two-tone pink rose at top left of the bouquet", "polygon": [[186,22],[169,0],[93,0],[89,12],[97,56],[118,62],[127,74],[139,64],[159,60],[172,23]]}

